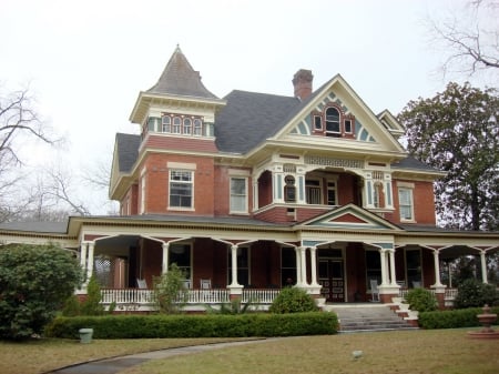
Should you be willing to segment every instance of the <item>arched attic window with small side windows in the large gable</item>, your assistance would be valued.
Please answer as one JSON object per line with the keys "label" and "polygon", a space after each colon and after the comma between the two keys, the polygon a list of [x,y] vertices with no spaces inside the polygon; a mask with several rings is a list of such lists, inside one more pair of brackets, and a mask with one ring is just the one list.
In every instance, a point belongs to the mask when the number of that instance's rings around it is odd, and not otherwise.
{"label": "arched attic window with small side windows in the large gable", "polygon": [[333,138],[354,138],[355,117],[345,114],[337,104],[328,104],[322,112],[313,112],[313,133]]}

